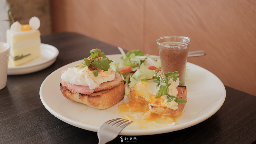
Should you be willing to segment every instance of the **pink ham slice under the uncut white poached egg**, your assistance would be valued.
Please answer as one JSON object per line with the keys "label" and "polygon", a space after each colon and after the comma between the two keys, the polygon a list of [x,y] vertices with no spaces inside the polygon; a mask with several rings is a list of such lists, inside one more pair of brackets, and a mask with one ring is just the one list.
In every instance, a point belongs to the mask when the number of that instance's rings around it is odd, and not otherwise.
{"label": "pink ham slice under the uncut white poached egg", "polygon": [[81,94],[92,94],[94,92],[99,92],[103,90],[110,90],[111,88],[118,86],[122,81],[122,77],[119,73],[115,73],[115,79],[112,81],[101,83],[99,87],[94,89],[90,89],[89,86],[83,85],[73,85],[71,83],[67,83],[61,80],[61,84],[63,87],[67,87],[72,93],[81,93]]}

